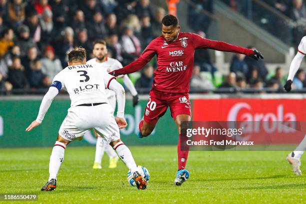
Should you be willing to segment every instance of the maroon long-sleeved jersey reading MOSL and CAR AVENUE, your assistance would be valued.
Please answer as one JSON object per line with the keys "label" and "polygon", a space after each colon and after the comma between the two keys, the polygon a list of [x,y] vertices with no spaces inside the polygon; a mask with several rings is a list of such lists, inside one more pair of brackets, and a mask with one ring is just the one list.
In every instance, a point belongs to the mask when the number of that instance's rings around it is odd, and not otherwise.
{"label": "maroon long-sleeved jersey reading MOSL and CAR AVENUE", "polygon": [[188,92],[196,48],[212,48],[246,55],[254,53],[252,49],[210,40],[190,32],[179,32],[177,39],[172,42],[167,42],[163,36],[153,39],[138,59],[115,70],[115,75],[139,70],[156,54],[158,66],[154,71],[153,89],[174,93]]}

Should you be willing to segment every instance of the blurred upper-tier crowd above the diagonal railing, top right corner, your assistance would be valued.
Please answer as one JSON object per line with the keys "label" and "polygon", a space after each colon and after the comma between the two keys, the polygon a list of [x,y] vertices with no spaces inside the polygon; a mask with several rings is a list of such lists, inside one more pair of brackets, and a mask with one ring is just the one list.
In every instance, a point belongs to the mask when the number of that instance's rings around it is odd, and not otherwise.
{"label": "blurred upper-tier crowd above the diagonal railing, top right corner", "polygon": [[[222,1],[288,44],[297,46],[306,33],[306,5],[303,0],[260,0],[263,3],[255,0]],[[269,8],[274,8],[279,14]]]}

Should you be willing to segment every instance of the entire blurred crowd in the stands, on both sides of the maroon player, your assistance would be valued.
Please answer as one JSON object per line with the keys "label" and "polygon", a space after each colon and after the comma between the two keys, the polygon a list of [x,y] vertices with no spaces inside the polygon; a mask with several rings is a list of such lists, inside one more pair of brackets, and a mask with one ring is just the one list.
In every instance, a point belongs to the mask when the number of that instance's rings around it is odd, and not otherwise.
{"label": "entire blurred crowd in the stands, on both sides of the maroon player", "polygon": [[[187,8],[189,25],[206,37],[210,18],[201,10],[213,13],[212,0],[190,1],[193,5]],[[281,7],[284,2],[275,1],[272,5]],[[0,0],[0,94],[48,87],[55,74],[67,65],[66,52],[82,46],[87,50],[87,59],[92,58],[92,41],[97,38],[105,39],[108,55],[124,66],[160,35],[161,19],[166,13],[162,7],[153,8],[150,0]],[[155,68],[153,59],[132,79],[138,90],[150,89]],[[296,88],[304,87],[302,76],[303,71],[296,74]],[[200,92],[248,87],[278,91],[284,81],[281,67],[271,74],[262,60],[242,54],[234,54],[229,74],[220,76],[209,51],[197,49],[190,87]]]}

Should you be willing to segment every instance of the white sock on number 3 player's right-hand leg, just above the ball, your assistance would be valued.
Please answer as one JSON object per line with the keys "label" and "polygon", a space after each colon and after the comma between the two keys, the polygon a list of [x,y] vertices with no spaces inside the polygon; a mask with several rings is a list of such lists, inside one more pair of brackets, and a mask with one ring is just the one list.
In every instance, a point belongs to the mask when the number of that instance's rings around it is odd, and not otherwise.
{"label": "white sock on number 3 player's right-hand leg, just above the ball", "polygon": [[119,141],[113,146],[113,149],[117,152],[119,158],[125,163],[127,168],[133,172],[132,168],[135,168],[137,165],[127,146],[122,141]]}

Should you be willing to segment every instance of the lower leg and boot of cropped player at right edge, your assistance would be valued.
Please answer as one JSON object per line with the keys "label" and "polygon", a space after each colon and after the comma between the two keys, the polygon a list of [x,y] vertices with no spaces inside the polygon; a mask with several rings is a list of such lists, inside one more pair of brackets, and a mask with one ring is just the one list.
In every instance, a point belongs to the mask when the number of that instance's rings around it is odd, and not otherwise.
{"label": "lower leg and boot of cropped player at right edge", "polygon": [[302,141],[298,144],[294,151],[290,152],[287,155],[288,162],[292,165],[293,173],[295,175],[301,175],[302,172],[300,170],[300,157],[306,150],[306,135]]}

